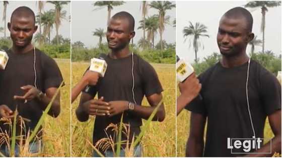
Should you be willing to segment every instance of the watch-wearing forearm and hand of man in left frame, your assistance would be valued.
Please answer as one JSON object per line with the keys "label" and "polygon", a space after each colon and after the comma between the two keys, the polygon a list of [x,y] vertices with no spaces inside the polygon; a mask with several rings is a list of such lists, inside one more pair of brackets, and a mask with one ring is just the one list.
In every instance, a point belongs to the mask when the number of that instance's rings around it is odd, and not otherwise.
{"label": "watch-wearing forearm and hand of man in left frame", "polygon": [[[37,101],[41,103],[39,105],[42,110],[46,109],[47,105],[50,103],[52,97],[55,95],[57,91],[56,87],[51,87],[51,88],[46,89],[45,95],[44,94],[39,95],[42,92],[36,89],[34,86],[26,85],[26,86],[21,87],[21,89],[26,91],[25,95],[24,96],[16,95],[14,96],[14,99],[20,99],[20,100],[36,99]],[[59,113],[60,113],[60,92],[55,97],[48,114],[52,117],[57,117]]]}

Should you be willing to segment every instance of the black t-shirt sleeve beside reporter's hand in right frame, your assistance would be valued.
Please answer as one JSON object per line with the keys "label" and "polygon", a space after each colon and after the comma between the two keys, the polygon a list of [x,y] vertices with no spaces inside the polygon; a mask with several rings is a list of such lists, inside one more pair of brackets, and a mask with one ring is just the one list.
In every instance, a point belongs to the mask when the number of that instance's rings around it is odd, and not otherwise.
{"label": "black t-shirt sleeve beside reporter's hand in right frame", "polygon": [[[198,79],[199,79],[199,82],[202,84],[202,87],[203,87],[204,83],[203,83],[203,80],[202,80],[202,76],[200,75],[198,77]],[[185,109],[189,110],[191,112],[198,113],[198,114],[201,114],[203,116],[206,116],[207,111],[206,111],[206,107],[205,107],[205,104],[204,104],[204,98],[202,97],[202,94],[201,94],[203,89],[204,88],[201,89],[200,94],[196,98],[194,98],[189,104],[187,104],[185,106]]]}

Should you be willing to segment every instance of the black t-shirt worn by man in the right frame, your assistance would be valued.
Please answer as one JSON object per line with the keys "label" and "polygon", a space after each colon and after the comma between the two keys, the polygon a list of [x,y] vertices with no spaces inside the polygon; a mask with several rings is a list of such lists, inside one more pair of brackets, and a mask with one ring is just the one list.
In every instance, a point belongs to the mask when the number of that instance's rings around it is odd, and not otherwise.
{"label": "black t-shirt worn by man in the right frame", "polygon": [[[246,97],[247,68],[248,62],[234,68],[224,68],[217,63],[199,75],[202,100],[194,99],[186,108],[207,117],[204,156],[242,156],[231,154],[227,138],[253,136]],[[253,60],[248,95],[256,137],[263,138],[266,116],[281,109],[281,86],[270,72]],[[233,152],[238,151],[233,149]]]}

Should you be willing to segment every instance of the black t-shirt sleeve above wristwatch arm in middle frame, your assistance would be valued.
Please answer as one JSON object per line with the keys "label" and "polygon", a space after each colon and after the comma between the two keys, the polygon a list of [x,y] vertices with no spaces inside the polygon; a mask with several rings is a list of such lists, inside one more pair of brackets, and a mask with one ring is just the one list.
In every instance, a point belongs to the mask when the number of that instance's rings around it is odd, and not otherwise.
{"label": "black t-shirt sleeve above wristwatch arm in middle frame", "polygon": [[147,62],[144,62],[142,68],[145,95],[148,97],[155,93],[161,93],[163,91],[163,87],[155,69]]}

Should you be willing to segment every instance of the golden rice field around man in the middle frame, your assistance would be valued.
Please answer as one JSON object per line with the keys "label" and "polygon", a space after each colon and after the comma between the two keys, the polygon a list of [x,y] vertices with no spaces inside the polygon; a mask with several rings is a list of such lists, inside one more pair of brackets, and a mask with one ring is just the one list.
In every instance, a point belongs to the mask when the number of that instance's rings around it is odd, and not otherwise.
{"label": "golden rice field around man in the middle frame", "polygon": [[[152,64],[158,73],[164,92],[166,118],[163,122],[151,122],[149,129],[143,137],[143,156],[146,157],[174,157],[175,144],[175,65]],[[80,80],[88,67],[85,62],[72,63],[72,87]],[[87,122],[79,122],[75,110],[80,97],[72,104],[72,156],[91,156],[92,148],[86,141],[92,142],[94,117]],[[146,98],[142,105],[149,105]]]}

